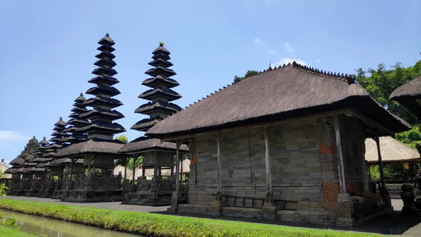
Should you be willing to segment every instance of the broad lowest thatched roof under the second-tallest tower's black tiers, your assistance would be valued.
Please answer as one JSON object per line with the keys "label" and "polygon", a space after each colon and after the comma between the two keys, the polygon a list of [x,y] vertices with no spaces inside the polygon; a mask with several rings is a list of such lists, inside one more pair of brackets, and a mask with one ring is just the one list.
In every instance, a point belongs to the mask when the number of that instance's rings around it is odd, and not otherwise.
{"label": "broad lowest thatched roof under the second-tallest tower's black tiers", "polygon": [[[124,145],[120,150],[119,153],[128,153],[128,154],[134,154],[134,153],[142,153],[147,150],[168,150],[175,152],[177,150],[176,144],[172,142],[167,141],[161,141],[159,139],[151,139],[147,136],[140,136],[138,139],[135,139],[126,145]],[[181,152],[188,151],[189,148],[187,148],[186,145],[180,146]]]}

